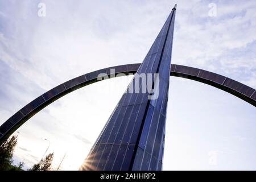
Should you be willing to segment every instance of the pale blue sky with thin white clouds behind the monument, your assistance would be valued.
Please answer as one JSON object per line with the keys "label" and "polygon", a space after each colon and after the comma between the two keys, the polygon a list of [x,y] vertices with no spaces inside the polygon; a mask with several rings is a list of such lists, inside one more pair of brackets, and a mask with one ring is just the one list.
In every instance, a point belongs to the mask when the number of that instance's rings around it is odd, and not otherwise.
{"label": "pale blue sky with thin white clouds behind the monument", "polygon": [[[0,0],[0,124],[73,77],[141,63],[175,3],[172,63],[255,89],[255,1]],[[54,169],[77,170],[131,78],[88,85],[34,115],[14,133],[14,164],[30,168],[49,146]],[[164,170],[256,170],[254,106],[171,77],[167,113]]]}

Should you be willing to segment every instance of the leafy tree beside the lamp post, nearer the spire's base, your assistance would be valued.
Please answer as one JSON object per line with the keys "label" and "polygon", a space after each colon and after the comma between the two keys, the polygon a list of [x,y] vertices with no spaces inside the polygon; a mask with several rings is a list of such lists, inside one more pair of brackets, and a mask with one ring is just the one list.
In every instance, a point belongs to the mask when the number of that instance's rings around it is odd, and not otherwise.
{"label": "leafy tree beside the lamp post, nearer the spire's base", "polygon": [[53,153],[48,154],[46,158],[40,160],[39,163],[34,164],[28,171],[50,171],[53,160]]}

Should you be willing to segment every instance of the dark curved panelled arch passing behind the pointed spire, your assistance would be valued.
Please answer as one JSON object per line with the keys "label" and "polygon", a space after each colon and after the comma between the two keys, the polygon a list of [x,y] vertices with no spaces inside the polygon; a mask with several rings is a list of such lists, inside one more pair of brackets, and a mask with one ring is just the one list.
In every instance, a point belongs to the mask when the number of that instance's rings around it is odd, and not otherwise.
{"label": "dark curved panelled arch passing behind the pointed spire", "polygon": [[[39,96],[35,100],[31,101],[0,126],[0,144],[2,144],[8,137],[10,137],[10,135],[13,134],[14,131],[21,125],[23,125],[24,122],[26,122],[47,105],[56,101],[60,97],[65,96],[65,94],[73,92],[76,89],[82,88],[83,86],[89,84],[93,84],[97,81],[101,81],[101,79],[98,80],[98,75],[100,73],[105,73],[106,75],[110,76],[110,78],[111,76],[113,77],[113,75],[117,75],[118,73],[129,75],[129,73],[136,73],[140,65],[141,64],[126,64],[99,69],[97,71],[86,73],[85,75],[73,78],[72,80],[56,86],[55,88],[42,94],[42,96]],[[112,72],[110,69],[114,69],[115,72]],[[241,98],[242,100],[256,107],[255,89],[228,77],[205,71],[203,69],[177,64],[171,65],[170,75],[188,78],[214,86],[218,89],[224,90],[225,92],[233,94],[234,96]]]}

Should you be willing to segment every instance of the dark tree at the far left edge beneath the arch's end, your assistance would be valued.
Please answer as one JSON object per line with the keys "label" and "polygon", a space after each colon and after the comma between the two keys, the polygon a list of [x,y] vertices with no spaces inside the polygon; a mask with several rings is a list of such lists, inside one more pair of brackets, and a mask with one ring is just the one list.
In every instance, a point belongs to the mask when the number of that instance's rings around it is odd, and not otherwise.
{"label": "dark tree at the far left edge beneath the arch's end", "polygon": [[[14,135],[10,139],[7,139],[0,146],[0,171],[7,171],[13,169],[11,163],[13,163],[13,152],[18,142],[18,136]],[[20,166],[22,167],[22,166]]]}

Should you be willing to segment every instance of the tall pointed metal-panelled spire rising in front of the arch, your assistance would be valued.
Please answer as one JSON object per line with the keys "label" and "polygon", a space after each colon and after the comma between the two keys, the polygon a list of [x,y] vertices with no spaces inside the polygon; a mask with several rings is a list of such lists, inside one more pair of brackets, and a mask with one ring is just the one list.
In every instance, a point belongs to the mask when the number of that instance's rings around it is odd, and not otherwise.
{"label": "tall pointed metal-panelled spire rising in front of the arch", "polygon": [[[176,5],[81,170],[162,169],[175,10]],[[143,76],[146,84],[138,81]],[[143,92],[148,80],[154,88]]]}

